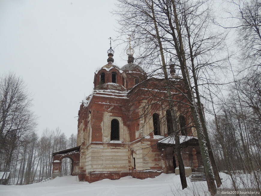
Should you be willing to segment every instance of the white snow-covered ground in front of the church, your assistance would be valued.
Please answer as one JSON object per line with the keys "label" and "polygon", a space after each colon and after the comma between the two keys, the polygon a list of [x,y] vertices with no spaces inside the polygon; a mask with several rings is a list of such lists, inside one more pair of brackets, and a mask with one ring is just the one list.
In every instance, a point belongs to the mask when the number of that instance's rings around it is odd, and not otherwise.
{"label": "white snow-covered ground in front of the church", "polygon": [[[228,175],[220,173],[223,187],[230,188]],[[182,190],[179,175],[164,174],[156,178],[136,179],[131,176],[118,180],[104,179],[98,182],[79,182],[77,176],[56,177],[53,180],[30,185],[0,185],[1,196],[192,196],[208,195],[207,183],[191,182],[187,178],[188,188]]]}

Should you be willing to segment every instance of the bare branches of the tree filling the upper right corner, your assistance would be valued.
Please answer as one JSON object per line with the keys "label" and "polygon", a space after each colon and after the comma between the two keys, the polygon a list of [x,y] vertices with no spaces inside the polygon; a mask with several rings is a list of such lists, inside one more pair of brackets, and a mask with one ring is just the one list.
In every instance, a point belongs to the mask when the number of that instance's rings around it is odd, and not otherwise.
{"label": "bare branches of the tree filling the upper right corner", "polygon": [[[259,0],[223,1],[224,11],[228,17],[213,20],[218,26],[233,29],[239,48],[236,56],[240,69],[238,71],[260,70],[261,63],[261,3]],[[226,23],[229,22],[229,25]]]}

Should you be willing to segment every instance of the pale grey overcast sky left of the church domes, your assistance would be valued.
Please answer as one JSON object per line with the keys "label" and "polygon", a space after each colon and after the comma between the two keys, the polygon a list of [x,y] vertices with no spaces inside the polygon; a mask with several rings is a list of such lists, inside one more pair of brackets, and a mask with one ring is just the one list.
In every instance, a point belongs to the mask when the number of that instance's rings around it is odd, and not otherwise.
{"label": "pale grey overcast sky left of the church domes", "polygon": [[[92,92],[95,70],[107,64],[108,38],[117,35],[114,3],[0,0],[0,74],[23,77],[38,134],[56,127],[67,137],[77,134],[79,102]],[[114,54],[119,67],[128,58],[122,48]]]}

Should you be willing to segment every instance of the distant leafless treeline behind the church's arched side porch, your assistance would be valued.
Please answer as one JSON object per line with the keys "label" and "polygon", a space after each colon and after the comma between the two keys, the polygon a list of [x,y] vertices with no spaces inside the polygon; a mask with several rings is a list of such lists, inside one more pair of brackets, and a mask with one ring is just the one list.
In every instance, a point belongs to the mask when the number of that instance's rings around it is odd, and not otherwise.
{"label": "distant leafless treeline behind the church's arched side porch", "polygon": [[[0,170],[10,171],[9,185],[26,185],[51,177],[52,152],[76,146],[76,135],[69,138],[59,128],[46,128],[41,137],[35,132],[27,135],[11,154],[1,153]],[[62,175],[70,175],[71,161],[62,161]],[[0,179],[1,180],[1,179]]]}

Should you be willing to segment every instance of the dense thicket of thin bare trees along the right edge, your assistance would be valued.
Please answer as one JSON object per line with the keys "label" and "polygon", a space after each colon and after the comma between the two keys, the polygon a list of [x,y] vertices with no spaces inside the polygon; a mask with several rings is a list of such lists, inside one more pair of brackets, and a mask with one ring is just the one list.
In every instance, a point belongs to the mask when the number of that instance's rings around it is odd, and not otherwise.
{"label": "dense thicket of thin bare trees along the right edge", "polygon": [[[214,110],[212,126],[214,151],[218,160],[222,160],[220,169],[230,175],[235,190],[239,187],[238,179],[242,179],[240,183],[244,188],[259,189],[260,74],[254,72],[235,82],[225,100],[217,108],[218,114]],[[247,175],[242,175],[241,171]]]}

